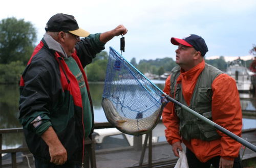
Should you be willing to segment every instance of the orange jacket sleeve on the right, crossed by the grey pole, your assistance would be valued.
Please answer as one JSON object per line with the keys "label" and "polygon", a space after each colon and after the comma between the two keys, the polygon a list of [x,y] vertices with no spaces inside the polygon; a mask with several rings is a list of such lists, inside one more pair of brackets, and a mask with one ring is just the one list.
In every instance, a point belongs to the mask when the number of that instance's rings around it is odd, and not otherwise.
{"label": "orange jacket sleeve on the right, crossed by the grey pole", "polygon": [[[212,93],[212,121],[241,136],[242,110],[236,81],[227,74],[220,74],[212,82]],[[221,131],[217,132],[221,135],[221,157],[233,160],[238,156],[241,144]]]}

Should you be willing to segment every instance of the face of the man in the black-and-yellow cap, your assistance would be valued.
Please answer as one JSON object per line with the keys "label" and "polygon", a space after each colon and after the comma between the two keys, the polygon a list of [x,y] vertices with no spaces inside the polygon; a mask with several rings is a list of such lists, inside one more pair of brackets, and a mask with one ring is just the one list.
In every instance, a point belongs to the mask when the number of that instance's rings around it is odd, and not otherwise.
{"label": "face of the man in the black-and-yellow cap", "polygon": [[70,57],[73,52],[75,52],[75,45],[78,41],[80,41],[79,36],[73,35],[71,33],[65,33],[66,40],[63,48],[65,49],[66,53]]}

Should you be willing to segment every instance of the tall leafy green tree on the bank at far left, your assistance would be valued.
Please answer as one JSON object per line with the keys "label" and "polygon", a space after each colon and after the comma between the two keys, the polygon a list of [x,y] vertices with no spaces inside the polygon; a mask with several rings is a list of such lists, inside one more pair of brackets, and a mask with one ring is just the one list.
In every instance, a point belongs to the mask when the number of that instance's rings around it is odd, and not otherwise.
{"label": "tall leafy green tree on the bank at far left", "polygon": [[31,22],[14,17],[0,21],[0,83],[17,83],[35,47]]}

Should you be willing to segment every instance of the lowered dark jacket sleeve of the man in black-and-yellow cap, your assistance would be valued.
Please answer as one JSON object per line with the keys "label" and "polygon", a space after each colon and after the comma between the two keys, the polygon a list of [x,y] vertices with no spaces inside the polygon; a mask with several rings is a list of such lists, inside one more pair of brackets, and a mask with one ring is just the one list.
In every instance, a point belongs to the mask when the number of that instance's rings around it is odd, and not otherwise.
{"label": "lowered dark jacket sleeve of the man in black-and-yellow cap", "polygon": [[38,136],[52,126],[49,118],[52,75],[40,61],[32,62],[23,73],[24,86],[20,86],[19,121],[24,129]]}

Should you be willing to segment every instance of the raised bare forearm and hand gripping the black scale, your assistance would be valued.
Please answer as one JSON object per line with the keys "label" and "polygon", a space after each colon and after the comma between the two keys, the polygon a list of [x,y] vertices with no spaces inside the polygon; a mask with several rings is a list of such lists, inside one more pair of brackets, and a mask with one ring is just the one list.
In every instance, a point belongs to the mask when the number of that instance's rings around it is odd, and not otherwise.
{"label": "raised bare forearm and hand gripping the black scale", "polygon": [[110,41],[113,37],[119,35],[125,35],[127,33],[127,29],[122,25],[118,25],[115,29],[101,33],[99,36],[99,40],[103,43]]}

